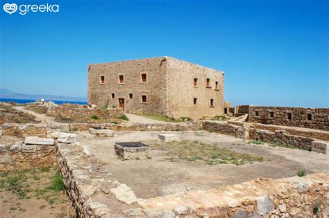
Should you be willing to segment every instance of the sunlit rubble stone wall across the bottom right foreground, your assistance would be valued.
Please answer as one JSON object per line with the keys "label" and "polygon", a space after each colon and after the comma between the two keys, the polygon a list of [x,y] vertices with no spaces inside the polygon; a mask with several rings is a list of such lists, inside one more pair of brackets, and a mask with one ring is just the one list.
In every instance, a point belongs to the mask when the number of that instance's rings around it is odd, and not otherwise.
{"label": "sunlit rubble stone wall across the bottom right foreground", "polygon": [[328,217],[328,181],[329,174],[255,179],[138,203],[153,217]]}

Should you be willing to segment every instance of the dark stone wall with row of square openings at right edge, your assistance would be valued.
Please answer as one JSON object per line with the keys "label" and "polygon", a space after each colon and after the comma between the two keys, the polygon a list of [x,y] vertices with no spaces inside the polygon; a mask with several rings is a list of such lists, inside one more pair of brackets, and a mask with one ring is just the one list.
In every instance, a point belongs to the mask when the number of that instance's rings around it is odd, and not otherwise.
{"label": "dark stone wall with row of square openings at right edge", "polygon": [[[288,113],[292,114],[291,119]],[[307,120],[307,114],[310,114],[312,120]],[[250,106],[248,122],[329,130],[329,108]]]}

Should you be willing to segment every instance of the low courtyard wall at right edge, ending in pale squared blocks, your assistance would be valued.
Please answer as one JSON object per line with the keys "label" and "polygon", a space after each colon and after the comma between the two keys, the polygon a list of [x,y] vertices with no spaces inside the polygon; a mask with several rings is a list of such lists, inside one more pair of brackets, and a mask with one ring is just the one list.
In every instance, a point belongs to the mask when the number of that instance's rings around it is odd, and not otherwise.
{"label": "low courtyard wall at right edge, ending in pale squared blocks", "polygon": [[284,130],[276,130],[272,132],[251,128],[249,130],[249,138],[254,140],[261,140],[267,143],[294,145],[295,147],[301,149],[307,149],[323,154],[326,154],[327,149],[329,149],[329,143],[317,141],[313,138],[289,135],[287,134],[287,131]]}

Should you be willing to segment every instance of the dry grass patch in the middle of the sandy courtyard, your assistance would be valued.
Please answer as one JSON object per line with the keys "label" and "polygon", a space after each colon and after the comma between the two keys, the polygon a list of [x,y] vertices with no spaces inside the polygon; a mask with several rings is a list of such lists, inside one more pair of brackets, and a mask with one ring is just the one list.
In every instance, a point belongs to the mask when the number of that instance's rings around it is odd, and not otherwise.
{"label": "dry grass patch in the middle of the sandy courtyard", "polygon": [[169,161],[187,160],[203,161],[210,165],[232,163],[243,165],[264,161],[261,156],[253,156],[246,153],[234,152],[233,150],[219,147],[217,144],[209,145],[198,141],[183,140],[172,143],[157,143],[156,148],[167,151]]}

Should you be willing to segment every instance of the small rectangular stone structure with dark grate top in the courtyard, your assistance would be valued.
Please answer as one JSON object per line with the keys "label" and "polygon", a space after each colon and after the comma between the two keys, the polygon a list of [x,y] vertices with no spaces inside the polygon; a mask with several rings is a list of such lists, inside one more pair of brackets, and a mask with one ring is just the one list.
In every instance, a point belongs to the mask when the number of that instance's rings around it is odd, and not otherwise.
{"label": "small rectangular stone structure with dark grate top in the courtyard", "polygon": [[115,154],[122,160],[140,160],[149,156],[149,145],[139,142],[115,143]]}

